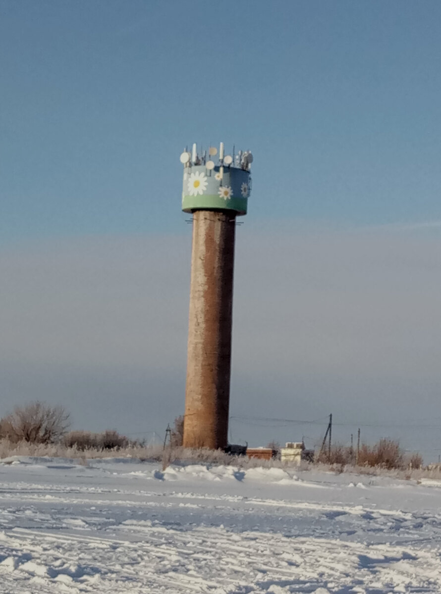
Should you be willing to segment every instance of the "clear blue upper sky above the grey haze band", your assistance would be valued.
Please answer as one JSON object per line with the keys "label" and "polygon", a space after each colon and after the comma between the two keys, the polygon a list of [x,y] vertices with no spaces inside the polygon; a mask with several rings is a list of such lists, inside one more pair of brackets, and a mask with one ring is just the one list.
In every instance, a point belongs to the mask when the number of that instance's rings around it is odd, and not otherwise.
{"label": "clear blue upper sky above the grey haze band", "polygon": [[2,0],[2,241],[178,231],[193,141],[253,150],[253,220],[441,218],[440,24],[437,1]]}

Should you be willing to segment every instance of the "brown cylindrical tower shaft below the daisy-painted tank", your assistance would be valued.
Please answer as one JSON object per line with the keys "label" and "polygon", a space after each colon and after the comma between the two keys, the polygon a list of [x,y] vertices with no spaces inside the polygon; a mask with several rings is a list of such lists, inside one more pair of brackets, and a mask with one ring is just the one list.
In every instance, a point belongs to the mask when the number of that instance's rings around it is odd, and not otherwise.
{"label": "brown cylindrical tower shaft below the daisy-painted tank", "polygon": [[184,447],[228,444],[235,215],[193,213]]}

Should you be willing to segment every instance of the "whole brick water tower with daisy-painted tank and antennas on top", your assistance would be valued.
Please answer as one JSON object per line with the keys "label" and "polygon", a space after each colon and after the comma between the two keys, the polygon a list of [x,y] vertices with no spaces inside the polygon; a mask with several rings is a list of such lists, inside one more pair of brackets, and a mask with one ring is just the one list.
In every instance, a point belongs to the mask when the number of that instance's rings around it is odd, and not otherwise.
{"label": "whole brick water tower with daisy-painted tank and antennas on top", "polygon": [[193,215],[184,447],[228,443],[236,217],[247,214],[250,151],[181,154],[182,210]]}

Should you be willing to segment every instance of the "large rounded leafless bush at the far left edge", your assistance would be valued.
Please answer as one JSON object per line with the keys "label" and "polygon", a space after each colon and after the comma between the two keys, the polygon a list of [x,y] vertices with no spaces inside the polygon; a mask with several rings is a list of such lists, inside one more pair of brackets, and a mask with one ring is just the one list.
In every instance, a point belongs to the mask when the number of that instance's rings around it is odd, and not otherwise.
{"label": "large rounded leafless bush at the far left edge", "polygon": [[16,406],[14,412],[0,421],[0,437],[11,441],[48,444],[58,440],[70,425],[69,413],[62,406],[43,402]]}

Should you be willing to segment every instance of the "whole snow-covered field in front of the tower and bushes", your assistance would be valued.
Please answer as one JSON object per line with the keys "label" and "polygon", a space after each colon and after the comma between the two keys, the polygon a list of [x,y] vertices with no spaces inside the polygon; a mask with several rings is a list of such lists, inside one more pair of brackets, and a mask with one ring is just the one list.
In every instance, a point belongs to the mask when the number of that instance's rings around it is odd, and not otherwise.
{"label": "whole snow-covered field in front of the tower and bushes", "polygon": [[440,496],[346,473],[9,459],[0,592],[439,593]]}

